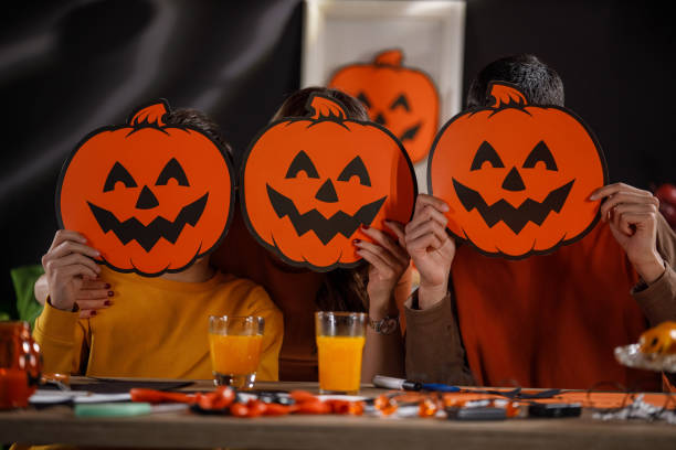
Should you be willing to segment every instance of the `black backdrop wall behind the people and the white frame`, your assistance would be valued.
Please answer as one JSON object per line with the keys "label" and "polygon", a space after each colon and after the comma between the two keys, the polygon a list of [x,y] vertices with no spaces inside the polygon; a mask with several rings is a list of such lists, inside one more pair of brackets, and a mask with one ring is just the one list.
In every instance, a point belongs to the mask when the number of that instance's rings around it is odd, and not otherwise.
{"label": "black backdrop wall behind the people and the white frame", "polygon": [[[464,88],[492,60],[534,53],[561,74],[612,181],[673,182],[674,26],[656,3],[469,0]],[[303,26],[299,0],[11,4],[0,23],[0,304],[10,310],[9,269],[47,248],[56,176],[83,136],[163,97],[212,115],[241,153],[299,87]]]}

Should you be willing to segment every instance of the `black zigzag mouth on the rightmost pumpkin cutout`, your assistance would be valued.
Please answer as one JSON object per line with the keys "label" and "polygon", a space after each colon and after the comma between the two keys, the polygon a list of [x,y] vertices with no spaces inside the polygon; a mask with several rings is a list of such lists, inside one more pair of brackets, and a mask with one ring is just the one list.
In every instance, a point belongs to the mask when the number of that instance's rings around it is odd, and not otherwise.
{"label": "black zigzag mouth on the rightmost pumpkin cutout", "polygon": [[519,207],[514,207],[504,199],[488,205],[482,194],[455,179],[453,179],[453,186],[465,210],[471,212],[476,208],[489,228],[493,228],[498,222],[503,222],[515,234],[519,234],[528,222],[542,225],[549,213],[552,211],[560,213],[574,182],[573,179],[561,188],[551,191],[542,202],[526,199]]}

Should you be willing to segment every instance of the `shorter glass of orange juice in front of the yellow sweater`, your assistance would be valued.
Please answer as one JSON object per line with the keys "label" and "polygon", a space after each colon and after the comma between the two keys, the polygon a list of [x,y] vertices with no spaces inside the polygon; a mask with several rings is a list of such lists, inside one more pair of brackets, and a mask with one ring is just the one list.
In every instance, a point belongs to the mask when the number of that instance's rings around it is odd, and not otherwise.
{"label": "shorter glass of orange juice in front of the yellow sweater", "polygon": [[252,388],[263,347],[263,318],[211,315],[209,349],[216,386]]}

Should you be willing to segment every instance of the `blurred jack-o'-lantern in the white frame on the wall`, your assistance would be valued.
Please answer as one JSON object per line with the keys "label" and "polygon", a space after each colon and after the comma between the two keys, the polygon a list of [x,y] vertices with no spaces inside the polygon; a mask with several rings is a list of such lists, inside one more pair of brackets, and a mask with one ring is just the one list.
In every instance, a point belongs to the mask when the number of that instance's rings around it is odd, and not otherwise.
{"label": "blurred jack-o'-lantern in the white frame on the wall", "polygon": [[400,50],[388,50],[372,64],[352,64],[336,72],[329,87],[358,98],[369,117],[404,144],[411,160],[425,158],[439,124],[439,95],[427,74],[401,65]]}

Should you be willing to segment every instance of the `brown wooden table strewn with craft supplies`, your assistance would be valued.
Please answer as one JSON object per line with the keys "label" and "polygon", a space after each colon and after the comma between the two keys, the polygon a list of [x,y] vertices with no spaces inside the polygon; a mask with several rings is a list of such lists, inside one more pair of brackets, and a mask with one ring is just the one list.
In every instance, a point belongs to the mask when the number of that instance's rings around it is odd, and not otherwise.
{"label": "brown wooden table strewn with craft supplies", "polygon": [[[316,384],[260,383],[263,389]],[[210,389],[199,382],[190,389]],[[362,394],[381,389],[365,387]],[[462,422],[345,416],[236,419],[188,413],[133,418],[75,418],[71,408],[0,411],[0,443],[245,449],[676,449],[676,426],[603,422],[590,417]]]}

